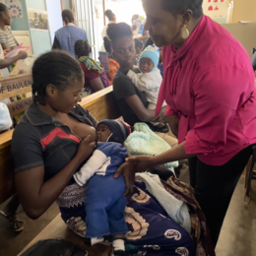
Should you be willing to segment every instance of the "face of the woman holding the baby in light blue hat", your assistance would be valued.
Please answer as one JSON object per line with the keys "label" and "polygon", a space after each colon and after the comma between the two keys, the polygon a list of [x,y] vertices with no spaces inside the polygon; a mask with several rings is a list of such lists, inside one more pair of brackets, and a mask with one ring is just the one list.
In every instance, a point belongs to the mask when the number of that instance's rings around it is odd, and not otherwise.
{"label": "face of the woman holding the baby in light blue hat", "polygon": [[121,37],[116,40],[113,56],[122,69],[132,69],[135,63],[136,50],[131,37]]}

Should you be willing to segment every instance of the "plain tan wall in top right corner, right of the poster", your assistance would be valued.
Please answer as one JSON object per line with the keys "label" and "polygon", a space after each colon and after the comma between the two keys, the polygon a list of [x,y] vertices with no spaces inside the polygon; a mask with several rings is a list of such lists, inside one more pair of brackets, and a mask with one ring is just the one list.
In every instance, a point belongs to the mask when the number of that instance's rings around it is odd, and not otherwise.
{"label": "plain tan wall in top right corner, right of the poster", "polygon": [[256,0],[233,0],[233,23],[256,22]]}

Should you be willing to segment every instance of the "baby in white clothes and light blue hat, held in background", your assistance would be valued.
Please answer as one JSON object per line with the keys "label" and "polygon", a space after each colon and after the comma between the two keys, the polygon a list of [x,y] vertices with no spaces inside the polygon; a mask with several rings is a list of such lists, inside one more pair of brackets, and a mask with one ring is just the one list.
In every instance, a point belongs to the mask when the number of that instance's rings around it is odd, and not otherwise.
{"label": "baby in white clothes and light blue hat, held in background", "polygon": [[[145,92],[148,109],[156,109],[158,97],[160,93],[160,84],[162,81],[158,65],[160,62],[160,49],[154,45],[150,45],[142,52],[139,59],[139,69],[142,73],[135,74],[129,70],[127,76],[132,80],[134,85],[141,91]],[[164,102],[162,106],[165,106]],[[152,122],[157,127],[158,132],[167,133],[168,127],[160,122]]]}

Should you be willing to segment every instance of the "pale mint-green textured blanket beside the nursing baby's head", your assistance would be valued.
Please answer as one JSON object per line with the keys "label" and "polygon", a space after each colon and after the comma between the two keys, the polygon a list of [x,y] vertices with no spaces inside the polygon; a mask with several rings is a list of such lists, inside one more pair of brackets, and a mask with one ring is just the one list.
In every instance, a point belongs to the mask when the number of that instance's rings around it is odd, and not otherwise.
{"label": "pale mint-green textured blanket beside the nursing baby's head", "polygon": [[[125,141],[125,147],[132,157],[158,156],[171,147],[154,133],[146,123],[136,123],[135,131]],[[177,167],[178,161],[164,163],[165,168]]]}

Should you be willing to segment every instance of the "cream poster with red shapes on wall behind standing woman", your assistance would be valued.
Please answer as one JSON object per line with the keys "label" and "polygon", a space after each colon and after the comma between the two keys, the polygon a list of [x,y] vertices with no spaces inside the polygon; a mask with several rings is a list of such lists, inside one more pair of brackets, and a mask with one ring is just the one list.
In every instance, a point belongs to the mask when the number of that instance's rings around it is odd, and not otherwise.
{"label": "cream poster with red shapes on wall behind standing woman", "polygon": [[204,0],[204,14],[212,19],[226,19],[228,0]]}

